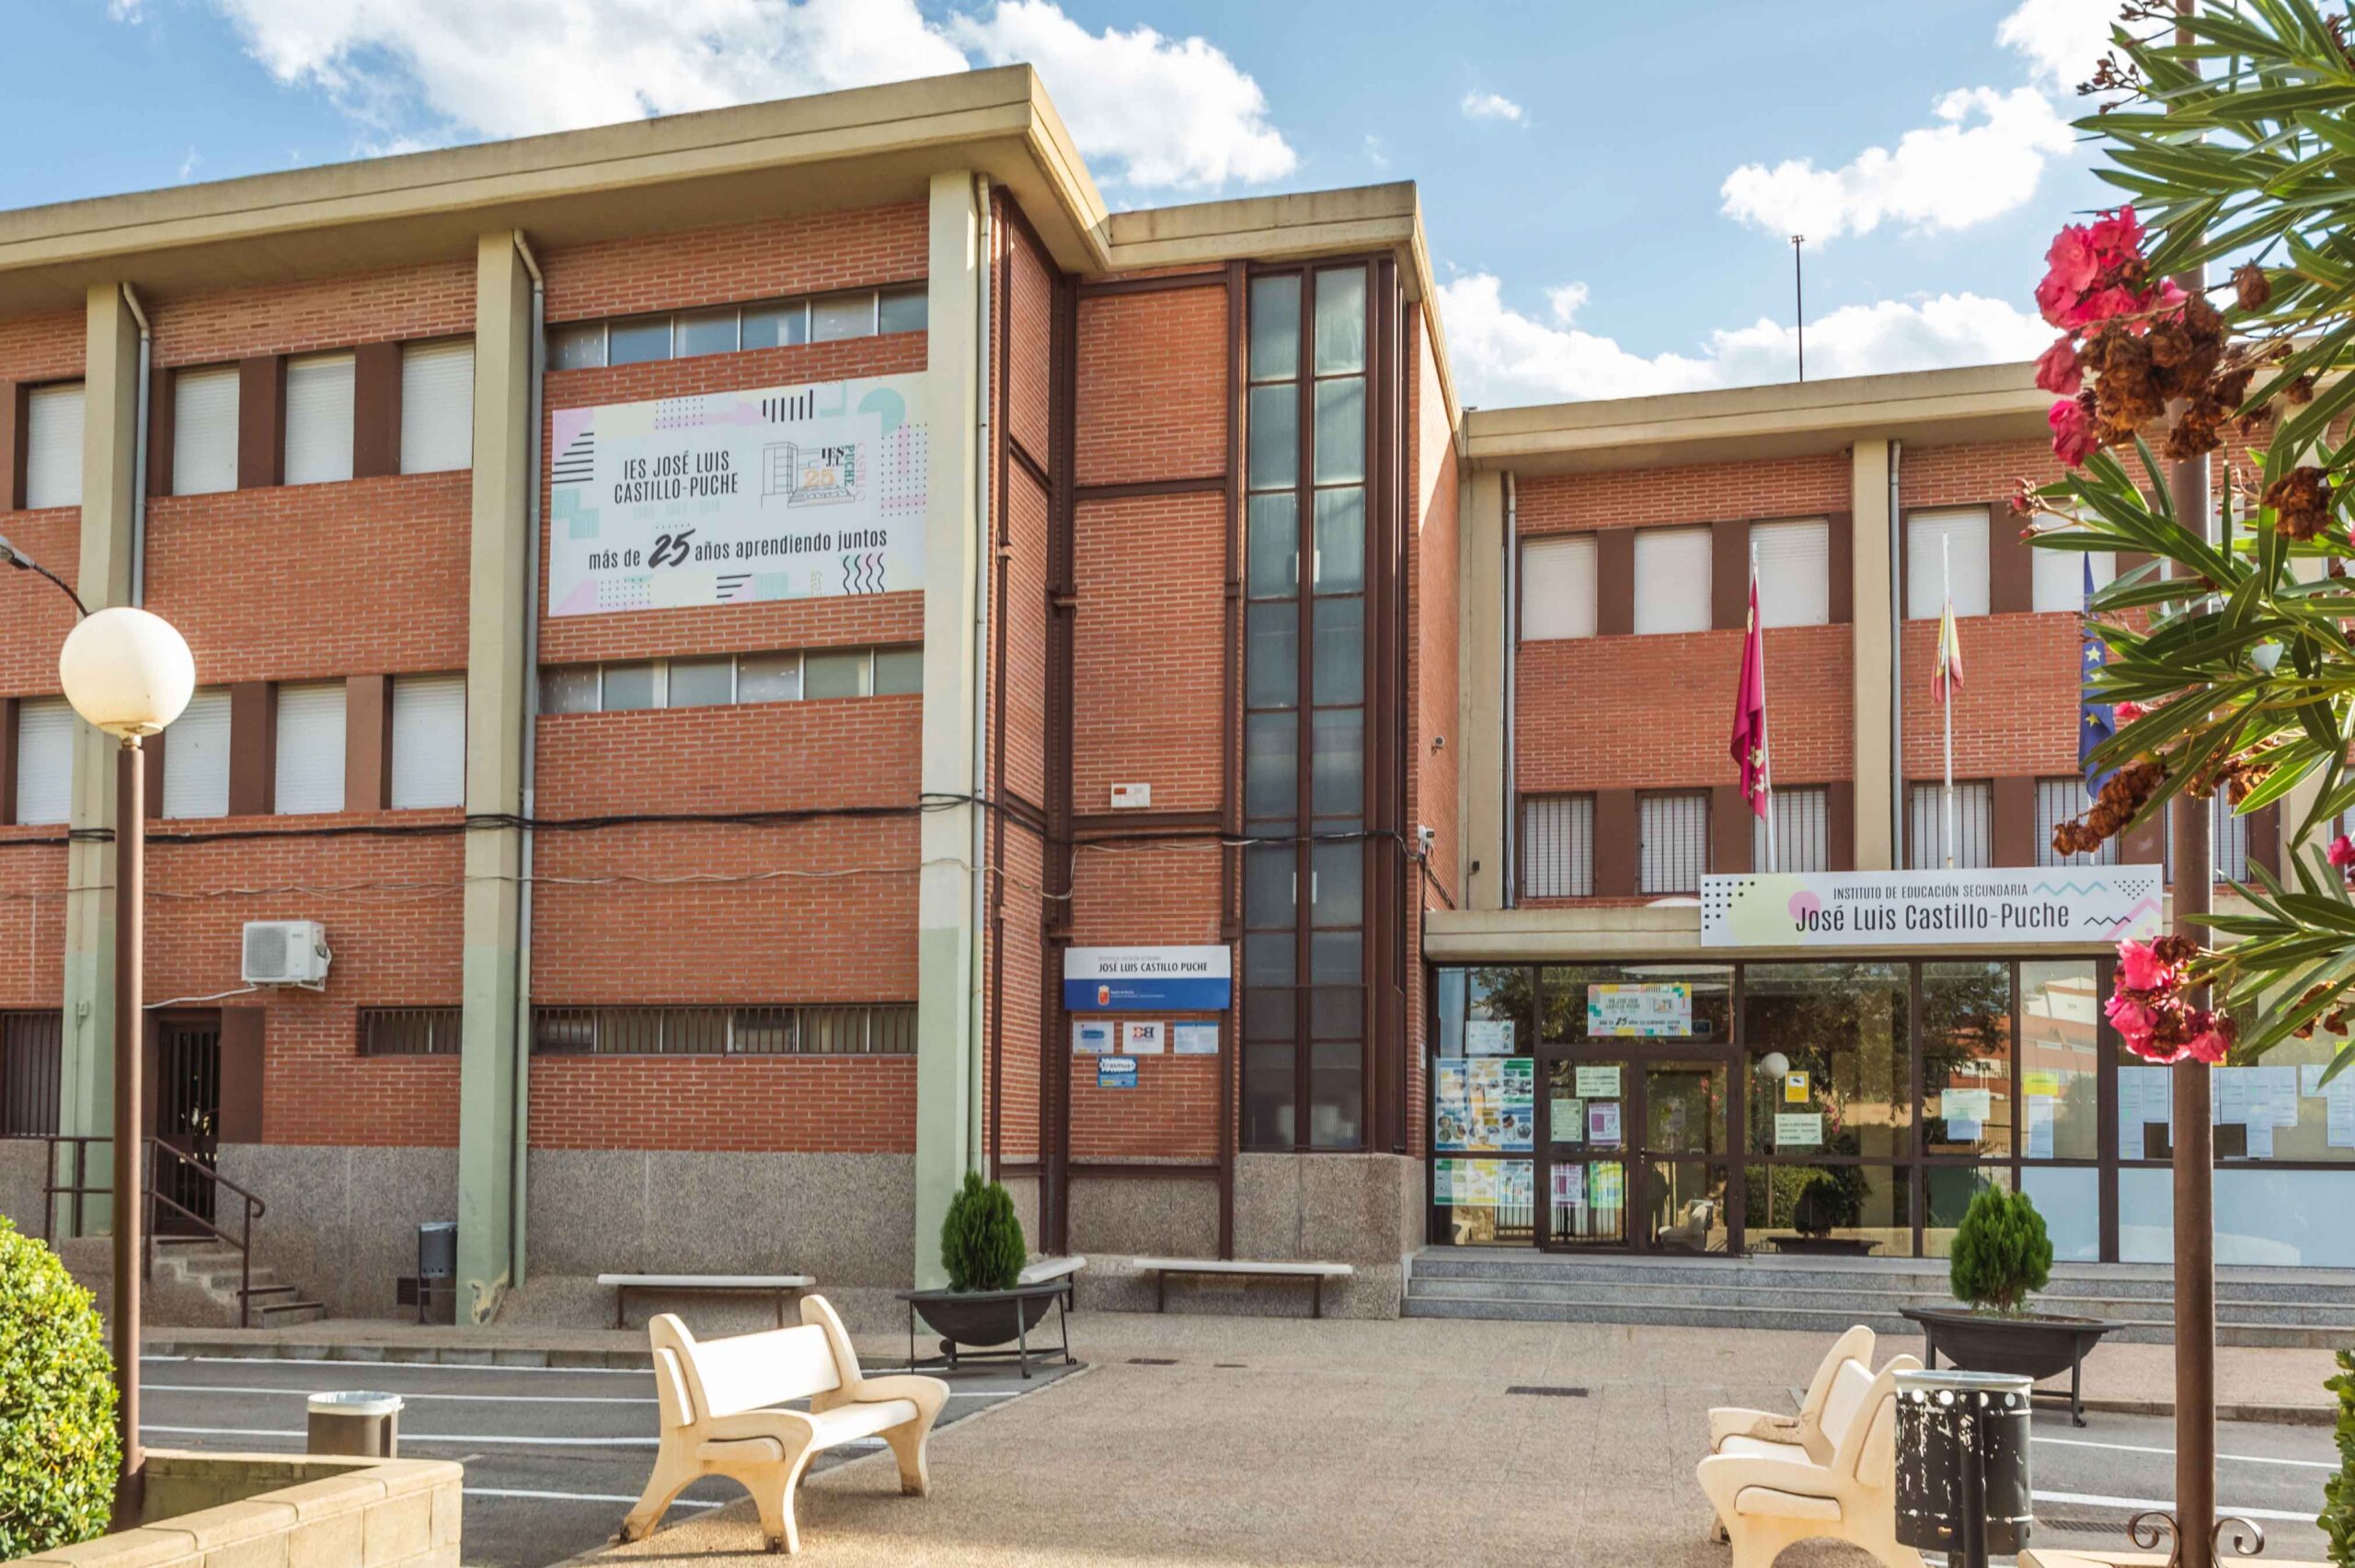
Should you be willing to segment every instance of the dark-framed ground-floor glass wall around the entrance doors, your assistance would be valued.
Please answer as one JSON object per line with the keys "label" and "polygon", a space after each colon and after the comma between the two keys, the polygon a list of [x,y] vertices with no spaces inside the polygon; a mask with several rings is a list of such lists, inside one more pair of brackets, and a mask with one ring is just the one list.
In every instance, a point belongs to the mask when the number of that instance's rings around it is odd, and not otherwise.
{"label": "dark-framed ground-floor glass wall around the entrance doors", "polygon": [[[2063,1262],[2169,1257],[2171,1074],[2124,1055],[2101,1022],[2110,961],[1474,965],[1432,979],[1434,1241],[1540,1241],[1528,1208],[1481,1198],[1543,1182],[1526,1165],[1547,1158],[1531,1147],[1545,1140],[1514,1140],[1507,1118],[1505,1142],[1481,1142],[1441,1092],[1479,1078],[1481,1057],[1524,1062],[1491,1076],[1538,1083],[1550,1062],[1639,1071],[1722,1057],[1731,1137],[1710,1147],[1729,1149],[1724,1201],[1743,1250],[1943,1257],[1971,1196],[2006,1187],[2035,1198]],[[1599,989],[1660,982],[1689,991],[1667,1034],[1590,1034]],[[2355,1267],[2343,1220],[2355,1205],[2355,1071],[2322,1083],[2336,1045],[2289,1041],[2261,1064],[2216,1069],[2218,1262]],[[1667,1170],[1672,1156],[1686,1151],[1627,1140],[1630,1191],[1656,1184],[1651,1165]]]}

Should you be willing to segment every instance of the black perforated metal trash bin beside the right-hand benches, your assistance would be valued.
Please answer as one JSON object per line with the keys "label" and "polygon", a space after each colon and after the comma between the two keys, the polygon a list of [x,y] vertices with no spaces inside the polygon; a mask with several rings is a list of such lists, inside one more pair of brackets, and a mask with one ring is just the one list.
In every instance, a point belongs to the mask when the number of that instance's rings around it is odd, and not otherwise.
{"label": "black perforated metal trash bin beside the right-hand benches", "polygon": [[1898,1542],[1950,1566],[2014,1556],[2035,1526],[2028,1391],[2016,1373],[1898,1373]]}

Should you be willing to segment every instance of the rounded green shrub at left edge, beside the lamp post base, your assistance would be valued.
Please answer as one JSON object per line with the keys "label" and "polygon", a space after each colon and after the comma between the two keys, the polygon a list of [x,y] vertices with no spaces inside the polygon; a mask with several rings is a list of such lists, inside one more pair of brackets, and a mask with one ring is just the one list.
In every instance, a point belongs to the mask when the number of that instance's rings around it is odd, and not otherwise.
{"label": "rounded green shrub at left edge, beside the lamp post base", "polygon": [[115,1363],[89,1293],[0,1215],[0,1561],[106,1533]]}

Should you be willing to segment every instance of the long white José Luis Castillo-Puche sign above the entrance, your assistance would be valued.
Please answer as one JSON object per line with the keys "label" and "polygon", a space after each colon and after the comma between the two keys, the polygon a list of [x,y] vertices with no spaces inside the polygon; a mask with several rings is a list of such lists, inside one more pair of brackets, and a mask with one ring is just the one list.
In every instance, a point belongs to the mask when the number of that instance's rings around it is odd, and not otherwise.
{"label": "long white Jos\u00e9 Luis Castillo-Puche sign above the entrance", "polygon": [[2035,946],[2157,935],[2157,866],[1700,878],[1700,946]]}

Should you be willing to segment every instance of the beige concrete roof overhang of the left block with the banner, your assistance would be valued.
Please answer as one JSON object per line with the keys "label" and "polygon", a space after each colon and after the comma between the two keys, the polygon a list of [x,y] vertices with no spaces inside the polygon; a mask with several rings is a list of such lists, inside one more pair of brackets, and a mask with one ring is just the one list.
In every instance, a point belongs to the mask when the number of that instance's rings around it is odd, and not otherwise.
{"label": "beige concrete roof overhang of the left block with the banner", "polygon": [[0,313],[473,257],[497,228],[563,247],[864,207],[954,170],[1006,186],[1060,266],[1107,266],[1095,181],[1036,73],[1001,66],[0,212]]}

